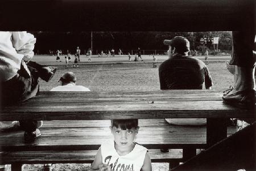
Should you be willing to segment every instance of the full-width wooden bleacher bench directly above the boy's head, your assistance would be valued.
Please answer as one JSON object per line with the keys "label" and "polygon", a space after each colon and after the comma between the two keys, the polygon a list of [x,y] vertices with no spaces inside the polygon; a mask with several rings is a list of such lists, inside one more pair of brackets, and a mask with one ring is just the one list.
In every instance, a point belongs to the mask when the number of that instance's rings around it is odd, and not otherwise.
{"label": "full-width wooden bleacher bench directly above the boy's head", "polygon": [[[40,92],[1,110],[0,121],[127,118],[255,118],[222,102],[222,91]],[[153,103],[154,102],[154,103]],[[75,117],[74,117],[75,116]]]}

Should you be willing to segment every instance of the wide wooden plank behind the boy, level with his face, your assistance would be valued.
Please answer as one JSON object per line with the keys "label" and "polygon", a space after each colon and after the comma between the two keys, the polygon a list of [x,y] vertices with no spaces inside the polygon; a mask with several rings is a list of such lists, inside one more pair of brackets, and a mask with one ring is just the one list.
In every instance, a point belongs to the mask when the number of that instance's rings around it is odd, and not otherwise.
{"label": "wide wooden plank behind the boy, level with his face", "polygon": [[[230,127],[229,134],[236,131]],[[42,135],[34,144],[24,143],[23,131],[1,132],[1,151],[42,151],[98,149],[112,137],[109,127],[41,128]],[[193,126],[142,126],[136,141],[152,148],[205,148],[206,127]]]}

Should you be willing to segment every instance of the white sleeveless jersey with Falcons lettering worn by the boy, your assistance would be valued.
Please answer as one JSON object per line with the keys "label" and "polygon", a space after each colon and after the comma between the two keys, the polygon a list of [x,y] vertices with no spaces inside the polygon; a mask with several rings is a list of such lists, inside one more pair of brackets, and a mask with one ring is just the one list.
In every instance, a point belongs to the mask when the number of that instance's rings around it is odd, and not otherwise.
{"label": "white sleeveless jersey with Falcons lettering worn by the boy", "polygon": [[114,148],[114,140],[101,145],[102,163],[108,164],[113,171],[140,171],[144,163],[147,148],[135,144],[133,151],[119,156]]}

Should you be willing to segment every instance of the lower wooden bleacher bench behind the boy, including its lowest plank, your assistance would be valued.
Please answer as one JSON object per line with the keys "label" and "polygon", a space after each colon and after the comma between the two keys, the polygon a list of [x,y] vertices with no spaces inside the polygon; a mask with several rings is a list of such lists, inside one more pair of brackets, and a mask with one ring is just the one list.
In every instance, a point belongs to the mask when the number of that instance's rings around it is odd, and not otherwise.
{"label": "lower wooden bleacher bench behind the boy, including its lowest plank", "polygon": [[[14,168],[21,164],[92,163],[101,142],[111,137],[109,125],[109,120],[45,121],[35,148],[23,142],[23,131],[2,132],[1,147],[5,152],[0,153],[1,163],[12,164]],[[173,126],[164,119],[139,119],[139,125],[137,142],[149,149],[152,162],[170,163],[174,167],[186,160],[182,148],[206,147],[205,126]],[[229,127],[228,135],[235,131],[236,127]],[[160,148],[171,149],[164,153]]]}

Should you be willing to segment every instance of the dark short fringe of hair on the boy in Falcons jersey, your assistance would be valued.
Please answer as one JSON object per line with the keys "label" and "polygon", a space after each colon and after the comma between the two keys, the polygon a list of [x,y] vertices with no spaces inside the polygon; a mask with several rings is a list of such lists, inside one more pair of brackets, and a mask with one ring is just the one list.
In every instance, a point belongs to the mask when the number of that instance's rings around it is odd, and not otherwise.
{"label": "dark short fringe of hair on the boy in Falcons jersey", "polygon": [[135,129],[138,128],[138,119],[112,119],[111,120],[112,127],[120,127],[122,130]]}

